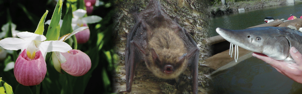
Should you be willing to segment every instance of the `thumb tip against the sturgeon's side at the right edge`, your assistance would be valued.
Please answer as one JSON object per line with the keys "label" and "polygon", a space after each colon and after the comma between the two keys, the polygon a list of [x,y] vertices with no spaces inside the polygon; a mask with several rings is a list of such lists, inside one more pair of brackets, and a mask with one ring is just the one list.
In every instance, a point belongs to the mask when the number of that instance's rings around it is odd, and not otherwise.
{"label": "thumb tip against the sturgeon's side at the right edge", "polygon": [[295,47],[291,47],[290,54],[294,61],[297,63],[297,65],[302,64],[302,55]]}

